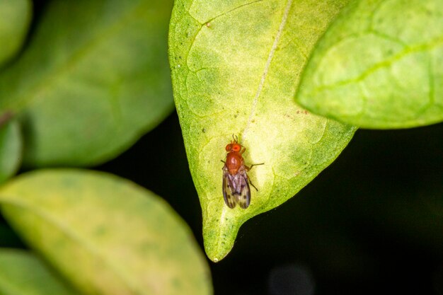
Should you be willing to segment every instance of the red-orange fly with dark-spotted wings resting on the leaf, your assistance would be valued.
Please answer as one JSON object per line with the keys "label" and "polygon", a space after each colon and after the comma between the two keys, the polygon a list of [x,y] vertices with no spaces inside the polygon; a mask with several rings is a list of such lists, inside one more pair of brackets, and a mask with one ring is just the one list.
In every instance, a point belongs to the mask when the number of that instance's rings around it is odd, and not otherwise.
{"label": "red-orange fly with dark-spotted wings resting on the leaf", "polygon": [[[251,190],[249,184],[251,180],[248,178],[247,171],[251,170],[253,166],[263,165],[253,164],[251,167],[245,165],[242,154],[246,148],[238,144],[238,138],[232,135],[233,141],[226,146],[226,162],[223,166],[223,197],[224,202],[229,208],[236,207],[236,204],[243,209],[248,208],[251,203]],[[251,183],[257,190],[257,187]]]}

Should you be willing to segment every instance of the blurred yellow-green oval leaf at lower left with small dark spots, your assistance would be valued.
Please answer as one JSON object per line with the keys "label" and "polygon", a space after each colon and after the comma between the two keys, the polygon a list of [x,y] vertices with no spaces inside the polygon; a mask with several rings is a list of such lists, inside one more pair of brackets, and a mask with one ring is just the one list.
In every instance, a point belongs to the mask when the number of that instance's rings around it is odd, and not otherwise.
{"label": "blurred yellow-green oval leaf at lower left with small dark spots", "polygon": [[88,170],[36,170],[0,190],[24,240],[85,294],[212,294],[207,262],[160,197]]}

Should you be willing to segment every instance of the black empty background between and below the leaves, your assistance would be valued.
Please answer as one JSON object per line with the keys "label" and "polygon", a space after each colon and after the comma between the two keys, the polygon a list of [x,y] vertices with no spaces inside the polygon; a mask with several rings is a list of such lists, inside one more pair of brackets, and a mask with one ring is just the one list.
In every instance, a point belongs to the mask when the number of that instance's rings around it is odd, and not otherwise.
{"label": "black empty background between and below the leaves", "polygon": [[[165,198],[203,248],[175,112],[96,169]],[[23,247],[3,220],[0,237]],[[231,253],[208,263],[216,295],[443,294],[443,124],[358,130],[304,190],[244,224]]]}

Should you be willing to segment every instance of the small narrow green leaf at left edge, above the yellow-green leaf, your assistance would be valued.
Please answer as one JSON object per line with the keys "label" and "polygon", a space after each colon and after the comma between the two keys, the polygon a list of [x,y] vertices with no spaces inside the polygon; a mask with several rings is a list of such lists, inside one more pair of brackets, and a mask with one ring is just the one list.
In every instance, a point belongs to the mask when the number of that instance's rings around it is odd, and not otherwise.
{"label": "small narrow green leaf at left edge, above the yellow-green leaf", "polygon": [[8,113],[0,116],[0,183],[16,173],[22,157],[20,128],[9,116]]}

